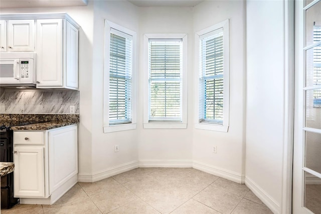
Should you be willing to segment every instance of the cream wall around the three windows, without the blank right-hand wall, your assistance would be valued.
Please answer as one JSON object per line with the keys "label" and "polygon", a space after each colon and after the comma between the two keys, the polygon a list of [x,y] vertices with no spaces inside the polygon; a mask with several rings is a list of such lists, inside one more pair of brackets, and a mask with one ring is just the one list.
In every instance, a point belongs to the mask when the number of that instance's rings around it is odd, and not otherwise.
{"label": "cream wall around the three windows, without the blank right-hand wall", "polygon": [[[98,180],[142,163],[192,161],[226,172],[241,182],[244,175],[245,112],[245,12],[241,1],[205,1],[195,8],[137,8],[127,1],[89,1],[86,7],[2,9],[2,13],[67,12],[81,26],[79,34],[79,175],[83,181]],[[137,32],[137,129],[103,133],[104,20]],[[194,34],[230,19],[230,129],[228,133],[194,129]],[[144,33],[188,34],[188,128],[143,129]],[[235,35],[235,36],[234,36]],[[120,151],[114,152],[114,144]],[[218,153],[211,152],[213,144]],[[193,152],[194,151],[194,152]],[[161,162],[159,162],[161,161]],[[135,165],[136,163],[136,165]],[[125,165],[125,166],[124,166]],[[149,165],[150,166],[150,165]],[[200,165],[199,165],[200,166]],[[204,166],[204,165],[202,165]],[[224,169],[218,170],[218,169]],[[234,176],[235,175],[235,176]],[[228,177],[228,176],[227,176]]]}

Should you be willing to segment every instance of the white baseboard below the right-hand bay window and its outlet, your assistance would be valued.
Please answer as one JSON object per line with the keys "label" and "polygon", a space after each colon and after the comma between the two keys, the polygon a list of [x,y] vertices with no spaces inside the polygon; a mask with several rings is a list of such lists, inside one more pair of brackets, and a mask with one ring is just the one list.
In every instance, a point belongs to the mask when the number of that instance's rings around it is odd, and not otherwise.
{"label": "white baseboard below the right-hand bay window and its outlet", "polygon": [[197,161],[193,161],[193,168],[213,175],[220,176],[222,178],[226,178],[237,183],[244,183],[245,181],[245,175],[214,167],[208,164],[200,163]]}

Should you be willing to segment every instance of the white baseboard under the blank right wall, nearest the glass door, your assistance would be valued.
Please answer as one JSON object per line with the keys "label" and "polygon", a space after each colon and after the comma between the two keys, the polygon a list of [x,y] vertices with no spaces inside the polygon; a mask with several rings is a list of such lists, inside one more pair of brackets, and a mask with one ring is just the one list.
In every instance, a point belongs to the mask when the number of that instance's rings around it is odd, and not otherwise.
{"label": "white baseboard under the blank right wall, nearest the glass door", "polygon": [[251,178],[245,177],[245,185],[258,197],[273,213],[280,213],[280,205],[273,200],[259,185],[257,185]]}

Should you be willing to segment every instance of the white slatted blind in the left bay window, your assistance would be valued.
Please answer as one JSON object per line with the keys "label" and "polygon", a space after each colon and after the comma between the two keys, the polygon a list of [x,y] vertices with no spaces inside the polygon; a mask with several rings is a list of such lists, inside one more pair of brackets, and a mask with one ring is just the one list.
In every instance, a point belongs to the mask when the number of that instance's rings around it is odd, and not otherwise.
{"label": "white slatted blind in the left bay window", "polygon": [[132,36],[110,30],[109,125],[131,123]]}

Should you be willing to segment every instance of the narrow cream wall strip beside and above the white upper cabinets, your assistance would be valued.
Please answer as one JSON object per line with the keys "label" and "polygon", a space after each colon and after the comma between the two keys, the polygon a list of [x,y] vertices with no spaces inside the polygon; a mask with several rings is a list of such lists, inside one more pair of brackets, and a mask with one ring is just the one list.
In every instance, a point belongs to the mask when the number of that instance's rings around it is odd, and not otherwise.
{"label": "narrow cream wall strip beside and above the white upper cabinets", "polygon": [[80,26],[79,30],[79,91],[80,124],[78,136],[79,173],[92,173],[92,58],[93,58],[93,4],[87,7],[64,8],[9,8],[2,14],[14,13],[68,13]]}

